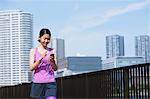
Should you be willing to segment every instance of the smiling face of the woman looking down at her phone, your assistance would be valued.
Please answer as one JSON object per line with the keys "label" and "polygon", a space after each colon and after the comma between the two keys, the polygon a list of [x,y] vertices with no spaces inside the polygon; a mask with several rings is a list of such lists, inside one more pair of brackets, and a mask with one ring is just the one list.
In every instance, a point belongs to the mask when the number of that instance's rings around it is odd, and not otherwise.
{"label": "smiling face of the woman looking down at her phone", "polygon": [[50,42],[50,35],[49,34],[44,34],[39,39],[40,39],[40,43],[43,45],[43,47],[47,47],[47,45]]}

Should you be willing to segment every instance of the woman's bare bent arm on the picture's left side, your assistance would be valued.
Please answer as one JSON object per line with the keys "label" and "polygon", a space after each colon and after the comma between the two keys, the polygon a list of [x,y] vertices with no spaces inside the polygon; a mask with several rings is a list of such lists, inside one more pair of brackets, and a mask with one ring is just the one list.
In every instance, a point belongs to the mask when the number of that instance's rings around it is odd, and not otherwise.
{"label": "woman's bare bent arm on the picture's left side", "polygon": [[30,50],[30,70],[33,71],[35,70],[38,65],[41,63],[41,60],[43,59],[42,57],[34,62],[34,53],[35,53],[35,49],[31,49]]}

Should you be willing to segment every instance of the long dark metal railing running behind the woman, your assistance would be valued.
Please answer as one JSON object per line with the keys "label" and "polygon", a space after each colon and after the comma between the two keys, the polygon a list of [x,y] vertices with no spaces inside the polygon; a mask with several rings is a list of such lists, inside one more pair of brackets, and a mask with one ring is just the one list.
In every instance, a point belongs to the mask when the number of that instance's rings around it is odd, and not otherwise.
{"label": "long dark metal railing running behind the woman", "polygon": [[[150,64],[60,77],[58,98],[150,98]],[[31,84],[0,88],[0,98],[30,98]]]}

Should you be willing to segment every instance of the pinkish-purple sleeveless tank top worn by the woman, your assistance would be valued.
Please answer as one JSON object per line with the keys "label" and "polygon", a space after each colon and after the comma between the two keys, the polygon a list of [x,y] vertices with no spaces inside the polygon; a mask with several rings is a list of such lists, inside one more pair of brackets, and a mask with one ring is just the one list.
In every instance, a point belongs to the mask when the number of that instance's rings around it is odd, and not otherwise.
{"label": "pinkish-purple sleeveless tank top worn by the woman", "polygon": [[[50,65],[50,55],[53,54],[52,49],[49,48],[47,55],[42,59],[41,63],[34,70],[33,82],[34,83],[49,83],[55,82],[54,70]],[[38,48],[35,49],[34,61],[41,57]]]}

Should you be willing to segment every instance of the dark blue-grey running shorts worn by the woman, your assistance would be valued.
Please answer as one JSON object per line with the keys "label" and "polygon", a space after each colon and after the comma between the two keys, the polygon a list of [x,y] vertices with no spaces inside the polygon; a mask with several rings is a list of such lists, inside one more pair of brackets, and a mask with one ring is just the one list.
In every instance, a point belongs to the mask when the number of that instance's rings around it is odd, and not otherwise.
{"label": "dark blue-grey running shorts worn by the woman", "polygon": [[56,96],[57,85],[56,82],[50,83],[32,83],[31,97],[48,97]]}

